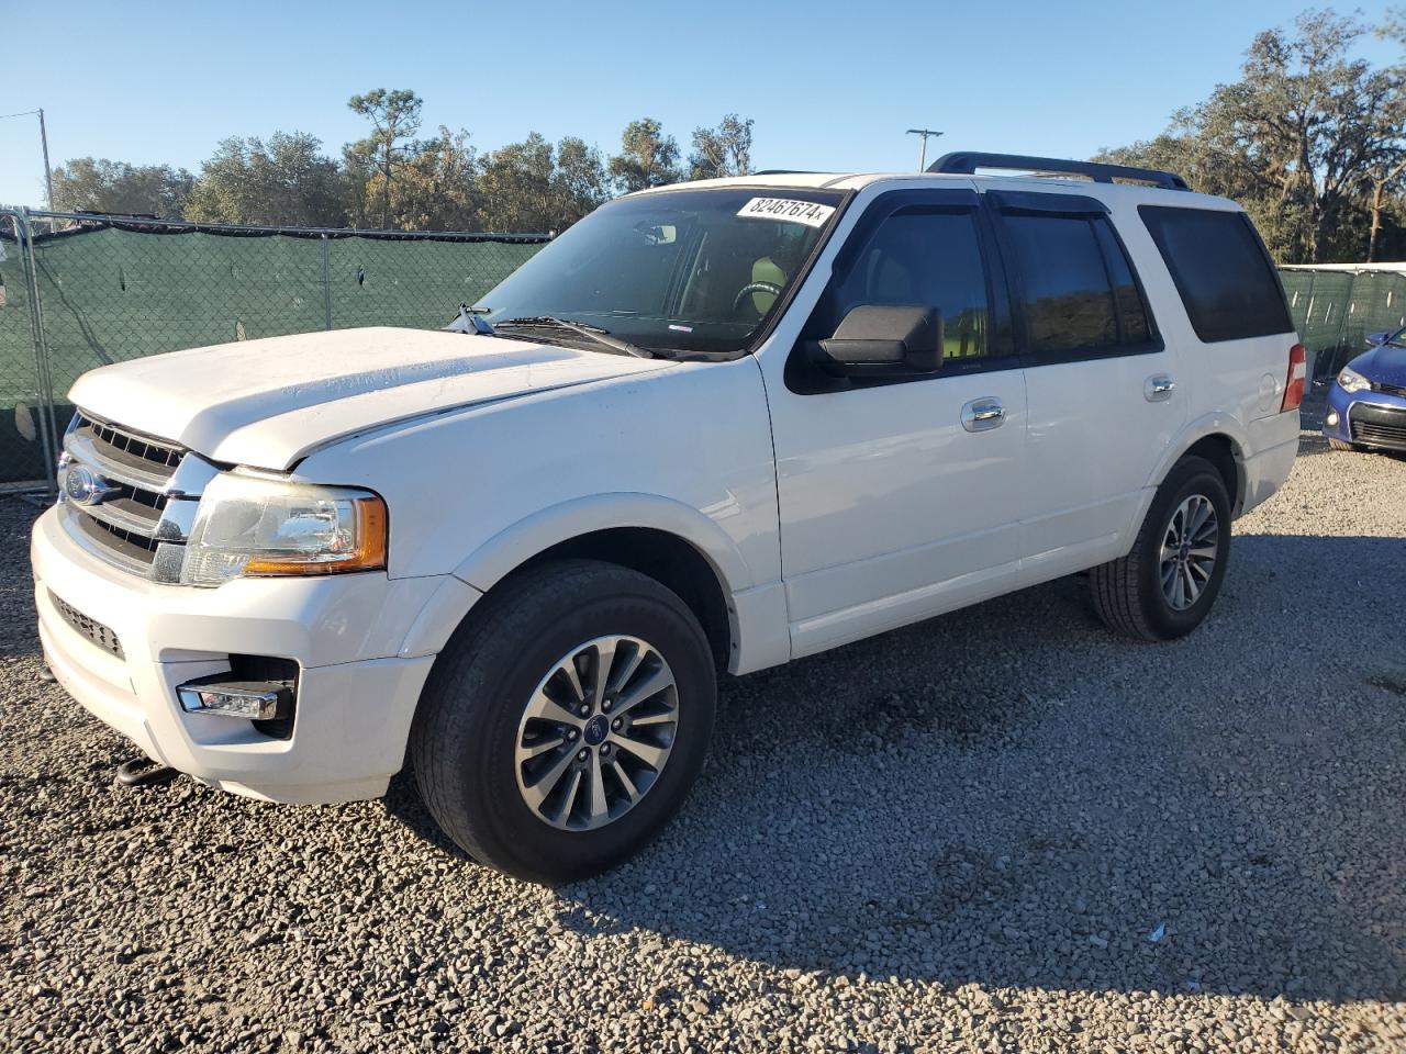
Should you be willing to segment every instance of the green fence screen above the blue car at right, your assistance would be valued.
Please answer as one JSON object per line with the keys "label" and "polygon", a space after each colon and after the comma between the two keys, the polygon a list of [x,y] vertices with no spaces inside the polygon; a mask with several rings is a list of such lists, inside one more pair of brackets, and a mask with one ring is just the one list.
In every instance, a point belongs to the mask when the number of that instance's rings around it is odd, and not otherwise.
{"label": "green fence screen above the blue car at right", "polygon": [[1279,278],[1317,379],[1331,377],[1367,350],[1368,333],[1406,326],[1406,264],[1281,267]]}

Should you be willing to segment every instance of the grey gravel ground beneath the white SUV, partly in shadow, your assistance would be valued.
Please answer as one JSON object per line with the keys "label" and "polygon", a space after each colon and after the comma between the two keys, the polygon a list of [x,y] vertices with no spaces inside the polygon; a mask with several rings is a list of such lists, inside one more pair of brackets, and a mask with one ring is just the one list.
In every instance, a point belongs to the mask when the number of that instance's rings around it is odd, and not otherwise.
{"label": "grey gravel ground beneath the white SUV, partly in shadow", "polygon": [[0,1048],[1406,1048],[1406,458],[1306,434],[1177,644],[1067,580],[725,683],[679,821],[558,891],[404,779],[117,788],[37,680],[32,516],[0,502]]}

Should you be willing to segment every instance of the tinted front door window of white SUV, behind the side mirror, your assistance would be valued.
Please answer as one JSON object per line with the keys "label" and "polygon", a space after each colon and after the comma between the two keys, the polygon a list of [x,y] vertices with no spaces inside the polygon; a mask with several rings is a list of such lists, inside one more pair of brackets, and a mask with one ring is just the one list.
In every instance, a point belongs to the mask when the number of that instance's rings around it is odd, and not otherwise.
{"label": "tinted front door window of white SUV, behind the side mirror", "polygon": [[884,219],[832,289],[830,332],[862,304],[936,308],[946,358],[990,354],[990,305],[976,216],[915,207]]}

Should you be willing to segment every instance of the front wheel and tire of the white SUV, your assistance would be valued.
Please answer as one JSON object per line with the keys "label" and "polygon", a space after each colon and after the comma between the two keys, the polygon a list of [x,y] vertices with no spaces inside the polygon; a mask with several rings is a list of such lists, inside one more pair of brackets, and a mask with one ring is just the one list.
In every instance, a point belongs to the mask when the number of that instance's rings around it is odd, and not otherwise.
{"label": "front wheel and tire of the white SUV", "polygon": [[717,683],[669,589],[598,561],[505,582],[450,639],[411,732],[430,814],[529,881],[598,874],[648,843],[703,767]]}

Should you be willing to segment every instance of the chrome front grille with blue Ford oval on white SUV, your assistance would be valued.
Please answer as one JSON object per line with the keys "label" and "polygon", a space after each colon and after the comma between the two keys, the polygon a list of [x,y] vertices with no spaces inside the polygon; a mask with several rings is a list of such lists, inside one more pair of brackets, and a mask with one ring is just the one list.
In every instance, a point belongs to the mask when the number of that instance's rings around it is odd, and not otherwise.
{"label": "chrome front grille with blue Ford oval on white SUV", "polygon": [[[70,467],[60,479],[60,500],[84,544],[127,571],[176,580],[200,495],[190,493],[187,483],[173,493],[174,481],[187,457],[201,460],[177,443],[86,410],[75,416],[63,450]],[[77,469],[86,474],[73,476]],[[208,478],[204,472],[195,475]]]}

